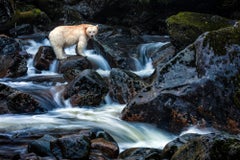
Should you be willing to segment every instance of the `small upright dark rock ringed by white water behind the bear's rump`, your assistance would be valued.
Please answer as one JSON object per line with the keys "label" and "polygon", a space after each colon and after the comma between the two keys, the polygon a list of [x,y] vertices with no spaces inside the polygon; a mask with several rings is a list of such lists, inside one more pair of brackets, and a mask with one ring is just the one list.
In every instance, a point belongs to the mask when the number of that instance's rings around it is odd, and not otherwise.
{"label": "small upright dark rock ringed by white water behind the bear's rump", "polygon": [[52,47],[41,46],[34,56],[33,66],[38,70],[49,70],[50,65],[53,63],[56,55]]}

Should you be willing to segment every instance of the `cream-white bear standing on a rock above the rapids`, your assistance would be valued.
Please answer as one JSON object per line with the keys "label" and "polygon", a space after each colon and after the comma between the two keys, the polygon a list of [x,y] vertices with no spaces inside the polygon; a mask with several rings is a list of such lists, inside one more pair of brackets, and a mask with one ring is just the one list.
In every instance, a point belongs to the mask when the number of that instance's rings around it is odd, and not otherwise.
{"label": "cream-white bear standing on a rock above the rapids", "polygon": [[57,59],[67,58],[64,52],[65,47],[76,46],[78,55],[82,55],[87,47],[89,39],[95,38],[98,33],[98,25],[81,24],[76,26],[58,26],[49,33],[49,40],[56,54]]}

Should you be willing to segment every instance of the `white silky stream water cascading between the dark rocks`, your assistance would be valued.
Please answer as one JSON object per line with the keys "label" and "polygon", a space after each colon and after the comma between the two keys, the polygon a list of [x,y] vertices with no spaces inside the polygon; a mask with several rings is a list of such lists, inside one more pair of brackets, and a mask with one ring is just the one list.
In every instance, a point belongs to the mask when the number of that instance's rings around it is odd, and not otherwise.
{"label": "white silky stream water cascading between the dark rocks", "polygon": [[[136,60],[136,63],[140,66],[139,71],[135,71],[136,74],[146,76],[154,71],[151,60],[145,55],[146,48],[151,47],[151,45],[156,47],[156,45],[161,46],[163,44],[164,43],[155,43],[141,47],[140,53],[142,55],[140,57],[142,60]],[[28,53],[34,56],[38,48],[43,45],[49,45],[49,41],[45,39],[37,43],[31,40],[25,48]],[[66,49],[66,53],[70,55],[74,54],[74,47]],[[95,54],[94,51],[91,50],[86,51],[85,54],[91,62],[98,64],[96,70],[102,76],[109,75],[111,68],[101,55]],[[32,66],[32,59],[28,61],[28,68],[27,77],[57,75],[56,62],[52,64],[49,71],[44,71],[41,74],[35,73],[35,69]],[[52,108],[52,110],[44,114],[36,115],[1,115],[0,137],[13,137],[22,132],[36,132],[41,130],[74,130],[97,127],[110,133],[118,142],[121,150],[130,147],[163,148],[169,141],[176,137],[153,125],[122,121],[119,116],[125,105],[112,102],[109,96],[106,96],[105,103],[100,106],[94,108],[73,108],[67,100],[63,101],[61,99],[61,92],[65,84],[36,84],[24,80],[20,82],[1,80],[1,83],[30,93],[41,102],[41,105],[47,106],[46,108]],[[8,147],[0,146],[0,153],[8,149]]]}

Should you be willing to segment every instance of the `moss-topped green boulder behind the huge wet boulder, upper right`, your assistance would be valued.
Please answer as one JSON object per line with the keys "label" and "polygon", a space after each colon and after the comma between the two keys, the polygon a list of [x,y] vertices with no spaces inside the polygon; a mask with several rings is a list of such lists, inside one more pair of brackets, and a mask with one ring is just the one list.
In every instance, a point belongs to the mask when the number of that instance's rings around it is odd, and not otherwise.
{"label": "moss-topped green boulder behind the huge wet boulder, upper right", "polygon": [[206,31],[231,26],[233,21],[217,15],[180,12],[166,20],[173,44],[183,49]]}

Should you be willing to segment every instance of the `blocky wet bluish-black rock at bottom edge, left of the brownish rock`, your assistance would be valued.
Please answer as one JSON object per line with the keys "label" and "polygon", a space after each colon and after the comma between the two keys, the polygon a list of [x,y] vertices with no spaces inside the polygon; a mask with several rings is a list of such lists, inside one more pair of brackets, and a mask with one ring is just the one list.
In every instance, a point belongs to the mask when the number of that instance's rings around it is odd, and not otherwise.
{"label": "blocky wet bluish-black rock at bottom edge, left of the brownish rock", "polygon": [[65,136],[51,142],[51,151],[58,159],[88,159],[90,141],[82,135]]}

